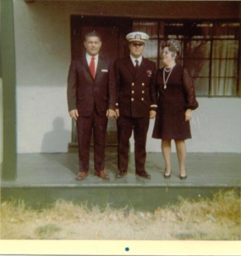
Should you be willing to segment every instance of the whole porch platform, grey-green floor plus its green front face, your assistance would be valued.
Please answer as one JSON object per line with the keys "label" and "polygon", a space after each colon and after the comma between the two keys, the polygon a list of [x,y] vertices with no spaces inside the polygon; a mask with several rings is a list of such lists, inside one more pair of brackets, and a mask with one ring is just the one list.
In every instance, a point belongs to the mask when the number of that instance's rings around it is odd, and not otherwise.
{"label": "whole porch platform, grey-green floor plus its green front face", "polygon": [[164,179],[164,160],[160,153],[148,153],[146,170],[151,179],[135,175],[134,155],[130,154],[128,175],[115,177],[117,155],[107,152],[105,170],[109,180],[94,176],[93,154],[90,175],[83,181],[75,180],[78,155],[18,154],[17,179],[1,181],[1,200],[23,199],[35,207],[52,204],[58,199],[88,205],[110,204],[112,207],[129,205],[135,209],[155,209],[173,203],[181,197],[200,199],[212,196],[219,189],[233,189],[240,193],[241,155],[232,153],[188,153],[187,180],[180,180],[175,153],[171,155],[172,176]]}

